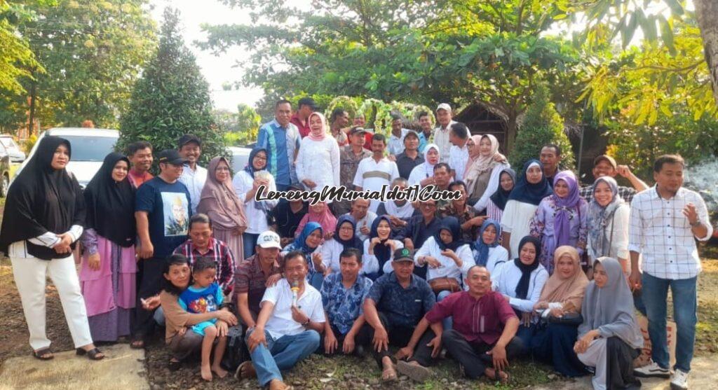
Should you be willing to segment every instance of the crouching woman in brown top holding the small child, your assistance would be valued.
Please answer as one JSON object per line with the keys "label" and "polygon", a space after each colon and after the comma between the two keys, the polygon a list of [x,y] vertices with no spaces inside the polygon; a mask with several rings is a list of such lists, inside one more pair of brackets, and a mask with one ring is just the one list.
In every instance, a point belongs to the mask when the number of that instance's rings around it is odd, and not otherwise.
{"label": "crouching woman in brown top holding the small child", "polygon": [[[183,255],[171,255],[164,265],[164,289],[159,293],[159,302],[164,313],[164,343],[172,351],[169,369],[177,371],[185,358],[202,349],[198,333],[186,331],[192,325],[217,319],[215,326],[218,336],[226,336],[228,327],[237,325],[237,318],[226,308],[207,313],[188,313],[180,306],[180,294],[190,286],[190,260]],[[222,374],[222,373],[217,373]],[[226,374],[226,373],[224,373]]]}

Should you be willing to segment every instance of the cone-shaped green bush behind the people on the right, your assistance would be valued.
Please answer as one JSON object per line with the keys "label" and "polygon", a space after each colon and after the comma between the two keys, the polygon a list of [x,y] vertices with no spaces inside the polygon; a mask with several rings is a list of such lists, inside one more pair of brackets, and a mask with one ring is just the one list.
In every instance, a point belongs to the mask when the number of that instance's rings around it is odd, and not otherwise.
{"label": "cone-shaped green bush behind the people on the right", "polygon": [[541,155],[541,148],[546,143],[561,147],[561,168],[575,168],[576,160],[571,142],[564,133],[564,121],[549,100],[549,90],[541,86],[536,89],[516,135],[515,146],[509,154],[511,165],[521,170],[526,161]]}

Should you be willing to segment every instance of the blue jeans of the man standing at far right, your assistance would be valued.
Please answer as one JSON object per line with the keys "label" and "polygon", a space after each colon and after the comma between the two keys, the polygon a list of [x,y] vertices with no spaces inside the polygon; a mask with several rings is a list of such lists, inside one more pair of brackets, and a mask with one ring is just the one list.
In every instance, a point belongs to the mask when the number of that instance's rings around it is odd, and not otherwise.
{"label": "blue jeans of the man standing at far right", "polygon": [[670,358],[666,346],[666,312],[668,287],[673,296],[673,320],[676,321],[676,366],[681,371],[691,371],[693,347],[696,341],[696,282],[690,279],[661,279],[643,272],[643,304],[648,317],[648,336],[651,336],[651,358],[658,366],[668,368]]}

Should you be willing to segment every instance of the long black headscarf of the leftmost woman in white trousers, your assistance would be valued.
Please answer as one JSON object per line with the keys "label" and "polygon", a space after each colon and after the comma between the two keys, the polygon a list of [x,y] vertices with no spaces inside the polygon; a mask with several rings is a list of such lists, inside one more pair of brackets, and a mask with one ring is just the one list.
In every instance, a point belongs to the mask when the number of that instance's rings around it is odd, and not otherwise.
{"label": "long black headscarf of the leftmost woman in white trousers", "polygon": [[[0,250],[7,253],[10,244],[41,236],[47,232],[62,234],[73,225],[85,223],[85,199],[74,176],[52,168],[52,158],[64,138],[42,138],[27,165],[10,186],[0,229]],[[73,243],[73,248],[75,243]],[[30,255],[43,260],[67,257],[55,250],[27,242]]]}

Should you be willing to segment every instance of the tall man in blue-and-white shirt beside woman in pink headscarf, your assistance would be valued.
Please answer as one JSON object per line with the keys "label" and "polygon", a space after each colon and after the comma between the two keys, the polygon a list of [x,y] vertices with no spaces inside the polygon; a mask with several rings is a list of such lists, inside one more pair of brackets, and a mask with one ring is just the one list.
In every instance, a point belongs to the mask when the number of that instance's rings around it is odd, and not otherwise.
{"label": "tall man in blue-and-white shirt beside woman in pink headscarf", "polygon": [[297,126],[289,122],[291,115],[292,103],[278,100],[274,105],[274,120],[262,125],[257,135],[255,148],[266,149],[266,169],[274,177],[277,191],[284,191],[289,184],[297,183],[294,160],[302,137]]}

